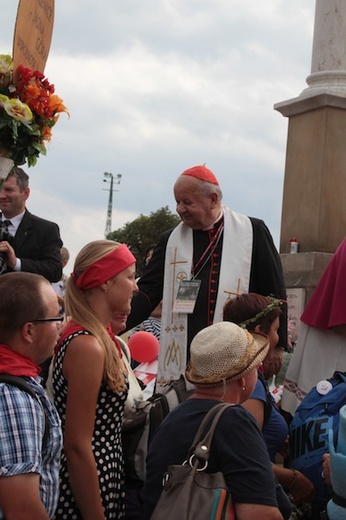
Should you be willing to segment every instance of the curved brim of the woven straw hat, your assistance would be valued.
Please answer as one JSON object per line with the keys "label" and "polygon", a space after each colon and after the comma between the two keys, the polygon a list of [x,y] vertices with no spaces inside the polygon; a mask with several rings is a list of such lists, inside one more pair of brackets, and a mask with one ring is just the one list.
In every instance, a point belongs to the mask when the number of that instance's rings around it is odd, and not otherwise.
{"label": "curved brim of the woven straw hat", "polygon": [[246,376],[246,374],[251,372],[254,368],[257,368],[263,362],[270,346],[269,338],[266,334],[262,334],[261,332],[251,332],[251,334],[248,332],[248,334],[253,337],[254,341],[246,350],[245,358],[243,357],[239,363],[235,364],[232,370],[225,374],[205,377],[198,375],[189,363],[185,370],[186,379],[195,385],[220,386],[224,380],[232,381]]}

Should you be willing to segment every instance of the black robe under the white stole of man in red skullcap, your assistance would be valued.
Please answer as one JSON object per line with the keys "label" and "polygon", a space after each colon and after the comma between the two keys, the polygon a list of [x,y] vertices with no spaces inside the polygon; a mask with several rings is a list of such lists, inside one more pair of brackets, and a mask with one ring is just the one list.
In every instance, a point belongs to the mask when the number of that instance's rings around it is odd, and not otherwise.
{"label": "black robe under the white stole of man in red skullcap", "polygon": [[[250,217],[250,221],[253,229],[253,248],[249,292],[256,292],[263,296],[274,295],[277,298],[286,300],[286,289],[281,260],[275,248],[270,231],[263,220]],[[162,300],[166,245],[172,231],[173,230],[171,229],[161,235],[153,256],[138,281],[139,292],[135,294],[132,299],[131,314],[127,319],[126,330],[135,327],[138,323],[147,319],[152,310]],[[198,231],[194,232],[194,255],[196,254],[196,251],[200,249],[200,251],[197,251],[197,258],[201,256],[201,252],[205,249],[205,244],[200,248],[199,242],[201,239],[198,238],[198,235],[200,234],[203,233]],[[223,238],[221,240],[223,240]],[[220,241],[220,248],[221,244],[222,241]],[[203,276],[207,278],[209,277],[210,265],[206,266],[206,269],[207,272],[204,274],[201,273],[199,278],[203,278]],[[207,285],[205,285],[205,288],[205,291],[201,288],[194,312],[188,316],[188,345],[197,332],[209,324],[205,318],[209,314],[209,311],[211,310],[213,313],[212,309],[207,309],[207,304],[210,298],[208,298]],[[280,316],[279,338],[279,345],[286,348],[286,305],[282,307],[282,315]]]}

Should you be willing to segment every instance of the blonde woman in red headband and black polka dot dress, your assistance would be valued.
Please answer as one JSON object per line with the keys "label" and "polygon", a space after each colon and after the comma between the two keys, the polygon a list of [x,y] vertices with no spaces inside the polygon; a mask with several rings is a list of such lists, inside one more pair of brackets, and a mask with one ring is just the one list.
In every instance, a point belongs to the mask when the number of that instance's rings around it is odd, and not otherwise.
{"label": "blonde woman in red headband and black polka dot dress", "polygon": [[59,339],[53,369],[64,432],[59,520],[124,518],[121,424],[128,379],[107,327],[115,313],[130,312],[138,290],[135,261],[124,244],[91,242],[67,280],[72,319]]}

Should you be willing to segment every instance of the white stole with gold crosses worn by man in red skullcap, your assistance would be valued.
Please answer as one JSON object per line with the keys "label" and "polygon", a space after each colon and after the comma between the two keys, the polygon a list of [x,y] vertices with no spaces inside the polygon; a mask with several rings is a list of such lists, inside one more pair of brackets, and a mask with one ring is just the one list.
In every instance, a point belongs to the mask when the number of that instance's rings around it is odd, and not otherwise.
{"label": "white stole with gold crosses worn by man in red skullcap", "polygon": [[[214,323],[222,321],[225,301],[249,290],[253,244],[248,217],[223,207],[224,236]],[[161,339],[157,385],[179,379],[187,362],[187,314],[173,313],[180,280],[191,278],[193,230],[182,222],[171,233],[166,247]],[[198,276],[197,276],[198,279]],[[198,295],[204,298],[204,294]]]}

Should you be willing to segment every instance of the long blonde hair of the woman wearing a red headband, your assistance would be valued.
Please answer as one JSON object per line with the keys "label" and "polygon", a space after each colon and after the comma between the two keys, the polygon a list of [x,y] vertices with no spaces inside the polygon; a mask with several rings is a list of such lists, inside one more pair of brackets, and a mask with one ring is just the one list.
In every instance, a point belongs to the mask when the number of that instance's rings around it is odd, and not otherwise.
{"label": "long blonde hair of the woman wearing a red headband", "polygon": [[[89,265],[111,253],[121,244],[112,240],[90,242],[78,253],[73,272],[78,277]],[[94,289],[79,289],[72,276],[66,283],[66,309],[72,319],[88,330],[99,342],[105,352],[103,378],[114,392],[125,390],[126,384],[120,367],[120,357],[105,327],[96,318],[89,304],[90,292]]]}

